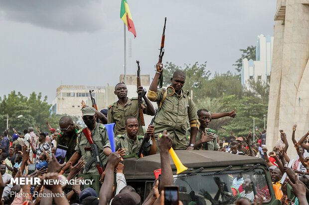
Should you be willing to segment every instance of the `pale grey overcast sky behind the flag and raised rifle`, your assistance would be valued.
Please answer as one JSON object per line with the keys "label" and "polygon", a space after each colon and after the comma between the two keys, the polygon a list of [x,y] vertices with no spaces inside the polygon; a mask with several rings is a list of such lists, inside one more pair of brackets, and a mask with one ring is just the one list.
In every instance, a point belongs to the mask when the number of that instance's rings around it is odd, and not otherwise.
{"label": "pale grey overcast sky behind the flag and raised rifle", "polygon": [[[127,74],[154,76],[164,17],[163,62],[207,61],[235,71],[240,48],[273,35],[275,0],[128,0],[137,37],[127,32]],[[0,96],[33,91],[51,103],[61,85],[114,85],[124,72],[121,0],[0,0]]]}

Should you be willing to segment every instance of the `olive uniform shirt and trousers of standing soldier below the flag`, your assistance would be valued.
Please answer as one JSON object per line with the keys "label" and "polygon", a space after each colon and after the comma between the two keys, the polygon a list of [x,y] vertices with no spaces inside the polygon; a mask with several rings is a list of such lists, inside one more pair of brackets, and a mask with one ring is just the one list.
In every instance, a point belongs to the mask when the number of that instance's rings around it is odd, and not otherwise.
{"label": "olive uniform shirt and trousers of standing soldier below the flag", "polygon": [[[143,110],[144,114],[148,115],[147,105],[143,102],[145,109]],[[133,116],[138,119],[139,122],[139,132],[138,135],[144,135],[143,127],[141,126],[140,112],[139,112],[139,101],[138,98],[128,98],[125,106],[119,104],[119,102],[115,102],[108,107],[107,113],[107,123],[116,123],[114,128],[114,133],[116,135],[124,135],[126,134],[126,119],[129,116]]]}

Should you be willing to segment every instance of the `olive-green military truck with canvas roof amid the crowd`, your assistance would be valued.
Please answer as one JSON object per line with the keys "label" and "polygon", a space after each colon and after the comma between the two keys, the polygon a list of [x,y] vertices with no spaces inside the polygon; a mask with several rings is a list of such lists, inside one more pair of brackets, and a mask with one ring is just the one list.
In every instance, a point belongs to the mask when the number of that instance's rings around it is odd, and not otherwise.
{"label": "olive-green military truck with canvas roof amid the crowd", "polygon": [[[177,175],[175,164],[170,158],[174,184],[179,186],[179,200],[184,205],[235,204],[242,195],[241,180],[251,184],[252,195],[260,196],[263,204],[281,204],[276,200],[270,173],[263,159],[218,151],[175,152],[188,168]],[[127,185],[134,187],[144,201],[153,187],[154,170],[160,169],[160,155],[127,158],[124,165]],[[290,190],[289,198],[293,198]]]}

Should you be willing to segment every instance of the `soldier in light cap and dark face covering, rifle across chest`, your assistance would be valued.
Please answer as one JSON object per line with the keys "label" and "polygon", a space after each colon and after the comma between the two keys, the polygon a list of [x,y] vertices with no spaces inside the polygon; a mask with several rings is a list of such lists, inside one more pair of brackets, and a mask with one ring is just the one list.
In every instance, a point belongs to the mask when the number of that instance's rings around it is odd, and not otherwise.
{"label": "soldier in light cap and dark face covering, rifle across chest", "polygon": [[[99,158],[102,162],[103,166],[106,164],[106,156],[103,154],[104,146],[109,143],[109,138],[107,135],[107,131],[104,125],[97,123],[97,115],[95,115],[95,109],[93,107],[85,107],[82,109],[83,113],[83,121],[91,131],[91,136],[94,144],[97,145],[99,151]],[[93,158],[92,151],[85,150],[85,147],[90,147],[90,143],[86,136],[84,135],[82,129],[78,131],[77,144],[75,147],[75,153],[70,158],[68,163],[64,166],[62,171],[65,171],[69,168],[71,162],[73,165],[78,162],[78,160],[83,156],[83,160],[85,161],[85,166],[87,162]],[[98,174],[98,169],[96,167],[96,163],[92,163],[89,170],[86,171],[84,168],[83,174]]]}

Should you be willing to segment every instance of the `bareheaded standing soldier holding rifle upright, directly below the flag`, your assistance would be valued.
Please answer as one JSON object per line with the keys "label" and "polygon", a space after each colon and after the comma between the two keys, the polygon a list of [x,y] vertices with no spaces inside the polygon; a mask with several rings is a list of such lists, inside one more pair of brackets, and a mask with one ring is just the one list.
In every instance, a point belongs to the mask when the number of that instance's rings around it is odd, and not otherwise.
{"label": "bareheaded standing soldier holding rifle upright, directly below the flag", "polygon": [[[142,91],[143,87],[139,87],[138,93],[141,93]],[[141,126],[138,98],[130,99],[127,97],[128,89],[124,83],[118,83],[115,86],[114,93],[117,95],[118,101],[108,107],[107,123],[116,123],[114,128],[115,136],[126,134],[125,121],[129,116],[133,116],[138,119],[140,127],[138,135],[144,135],[143,127]],[[143,97],[143,99],[144,114],[154,116],[154,106],[146,97],[146,95]]]}

